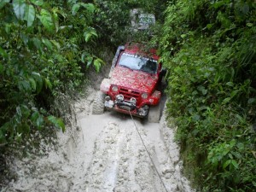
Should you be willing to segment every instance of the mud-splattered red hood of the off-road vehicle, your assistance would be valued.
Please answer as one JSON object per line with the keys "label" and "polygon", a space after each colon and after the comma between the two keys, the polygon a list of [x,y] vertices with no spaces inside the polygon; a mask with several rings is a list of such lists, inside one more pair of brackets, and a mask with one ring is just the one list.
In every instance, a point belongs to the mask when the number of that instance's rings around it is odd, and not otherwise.
{"label": "mud-splattered red hood of the off-road vehicle", "polygon": [[157,84],[157,75],[118,66],[113,68],[111,84],[151,93]]}

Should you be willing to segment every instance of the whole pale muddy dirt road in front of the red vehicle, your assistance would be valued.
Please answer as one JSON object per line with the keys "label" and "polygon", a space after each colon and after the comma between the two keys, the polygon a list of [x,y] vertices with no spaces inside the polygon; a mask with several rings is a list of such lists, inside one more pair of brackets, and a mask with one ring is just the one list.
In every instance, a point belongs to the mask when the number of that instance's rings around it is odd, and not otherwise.
{"label": "whole pale muddy dirt road in front of the red vehicle", "polygon": [[91,92],[75,104],[78,125],[58,133],[59,147],[43,157],[15,160],[17,179],[3,191],[192,191],[182,176],[174,130],[166,126],[165,115],[160,123],[133,122],[119,113],[92,115]]}

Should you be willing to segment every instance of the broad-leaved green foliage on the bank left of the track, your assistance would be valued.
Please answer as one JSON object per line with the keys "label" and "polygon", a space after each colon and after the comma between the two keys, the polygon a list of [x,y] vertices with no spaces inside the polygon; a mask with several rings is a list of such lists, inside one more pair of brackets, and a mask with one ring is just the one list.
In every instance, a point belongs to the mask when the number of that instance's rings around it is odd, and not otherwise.
{"label": "broad-leaved green foliage on the bank left of the track", "polygon": [[104,64],[90,52],[97,38],[95,9],[79,1],[1,1],[1,146],[52,127],[65,131],[63,121],[53,116],[59,114],[51,109],[53,101],[81,84],[87,62],[97,72]]}

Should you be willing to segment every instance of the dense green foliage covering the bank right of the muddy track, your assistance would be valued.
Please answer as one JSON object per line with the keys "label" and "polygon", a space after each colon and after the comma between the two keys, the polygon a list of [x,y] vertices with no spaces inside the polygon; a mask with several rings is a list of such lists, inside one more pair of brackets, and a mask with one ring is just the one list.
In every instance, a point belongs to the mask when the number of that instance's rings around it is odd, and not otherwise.
{"label": "dense green foliage covering the bank right of the muddy track", "polygon": [[170,3],[160,38],[167,112],[201,191],[255,189],[256,5]]}

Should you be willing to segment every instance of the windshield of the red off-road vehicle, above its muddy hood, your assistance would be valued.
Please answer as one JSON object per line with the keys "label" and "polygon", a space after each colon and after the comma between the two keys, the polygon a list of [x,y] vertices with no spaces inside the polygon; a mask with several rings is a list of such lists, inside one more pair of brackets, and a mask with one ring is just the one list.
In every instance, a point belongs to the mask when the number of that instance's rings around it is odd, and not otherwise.
{"label": "windshield of the red off-road vehicle, above its muddy hood", "polygon": [[146,73],[157,73],[157,61],[146,57],[123,53],[119,59],[119,66],[128,67]]}

